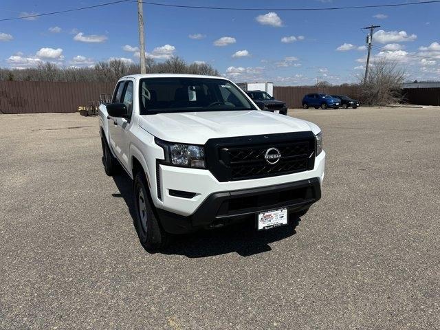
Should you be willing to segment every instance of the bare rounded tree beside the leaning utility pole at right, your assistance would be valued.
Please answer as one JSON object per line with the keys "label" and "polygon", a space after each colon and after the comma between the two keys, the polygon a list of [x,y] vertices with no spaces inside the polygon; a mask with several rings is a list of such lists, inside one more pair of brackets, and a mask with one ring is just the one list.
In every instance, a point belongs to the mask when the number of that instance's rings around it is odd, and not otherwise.
{"label": "bare rounded tree beside the leaning utility pole at right", "polygon": [[361,81],[362,102],[371,105],[399,103],[403,100],[401,84],[406,77],[405,69],[388,58],[373,61],[366,81]]}

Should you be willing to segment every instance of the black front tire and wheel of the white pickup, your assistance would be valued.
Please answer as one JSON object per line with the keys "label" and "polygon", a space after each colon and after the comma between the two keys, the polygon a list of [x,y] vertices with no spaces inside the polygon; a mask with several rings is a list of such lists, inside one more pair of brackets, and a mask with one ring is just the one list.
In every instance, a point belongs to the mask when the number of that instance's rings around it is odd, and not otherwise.
{"label": "black front tire and wheel of the white pickup", "polygon": [[147,252],[157,252],[166,248],[169,234],[165,232],[157,218],[155,207],[144,173],[137,172],[133,182],[133,198],[135,203],[135,229],[141,245]]}

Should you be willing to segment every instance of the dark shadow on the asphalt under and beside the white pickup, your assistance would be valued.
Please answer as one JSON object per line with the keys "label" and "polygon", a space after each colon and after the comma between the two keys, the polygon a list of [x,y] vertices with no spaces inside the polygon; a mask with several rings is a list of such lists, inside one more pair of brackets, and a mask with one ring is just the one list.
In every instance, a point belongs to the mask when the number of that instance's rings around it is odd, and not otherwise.
{"label": "dark shadow on the asphalt under and beside the white pickup", "polygon": [[[113,197],[123,198],[131,218],[135,219],[135,205],[131,179],[123,173],[113,177],[120,193],[113,193]],[[241,256],[252,256],[269,252],[270,243],[286,239],[296,234],[296,226],[300,218],[289,220],[289,225],[274,228],[264,232],[257,232],[254,223],[243,222],[215,230],[201,230],[191,234],[173,236],[170,246],[162,251],[163,254],[184,255],[188,258],[203,258],[236,252]],[[134,227],[133,227],[133,230]]]}

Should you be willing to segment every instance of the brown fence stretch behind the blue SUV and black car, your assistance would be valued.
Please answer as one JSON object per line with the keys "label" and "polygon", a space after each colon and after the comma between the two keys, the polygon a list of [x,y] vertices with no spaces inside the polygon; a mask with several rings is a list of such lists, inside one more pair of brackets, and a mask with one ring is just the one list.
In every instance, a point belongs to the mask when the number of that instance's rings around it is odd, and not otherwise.
{"label": "brown fence stretch behind the blue SUV and black car", "polygon": [[[289,108],[301,108],[301,101],[305,94],[324,93],[330,95],[347,95],[356,100],[360,100],[360,91],[358,87],[274,87],[274,97],[287,103]],[[362,100],[360,100],[362,102]]]}

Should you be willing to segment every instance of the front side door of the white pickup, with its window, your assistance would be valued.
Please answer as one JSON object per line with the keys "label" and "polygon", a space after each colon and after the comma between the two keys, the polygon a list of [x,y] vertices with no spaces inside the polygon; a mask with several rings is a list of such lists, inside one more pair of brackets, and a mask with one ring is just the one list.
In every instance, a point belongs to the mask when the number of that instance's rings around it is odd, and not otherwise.
{"label": "front side door of the white pickup, with its window", "polygon": [[[126,80],[124,89],[122,91],[121,103],[124,103],[129,113],[133,113],[133,87],[132,80]],[[121,164],[129,169],[129,129],[131,127],[130,118],[114,118],[116,125],[114,126],[113,140],[115,141],[116,148],[118,150],[118,158]]]}

